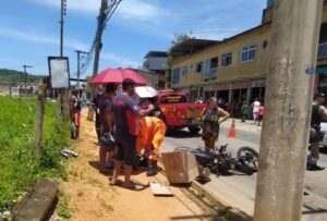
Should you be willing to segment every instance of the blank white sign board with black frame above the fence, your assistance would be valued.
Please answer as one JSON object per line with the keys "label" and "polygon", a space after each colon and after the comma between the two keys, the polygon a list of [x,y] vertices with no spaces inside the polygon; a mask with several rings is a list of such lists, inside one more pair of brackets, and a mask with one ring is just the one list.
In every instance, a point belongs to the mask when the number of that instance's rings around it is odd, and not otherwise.
{"label": "blank white sign board with black frame above the fence", "polygon": [[49,57],[49,73],[51,88],[69,88],[70,87],[70,67],[66,57]]}

